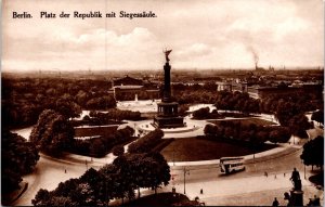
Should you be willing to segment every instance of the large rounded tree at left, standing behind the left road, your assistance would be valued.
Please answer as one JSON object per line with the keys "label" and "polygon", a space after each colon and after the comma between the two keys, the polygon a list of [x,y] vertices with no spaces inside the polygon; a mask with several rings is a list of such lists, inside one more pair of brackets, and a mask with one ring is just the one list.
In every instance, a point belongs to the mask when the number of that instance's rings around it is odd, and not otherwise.
{"label": "large rounded tree at left, standing behind the left road", "polygon": [[72,146],[74,133],[73,126],[64,116],[52,109],[46,109],[40,114],[29,139],[42,152],[60,156],[63,151]]}

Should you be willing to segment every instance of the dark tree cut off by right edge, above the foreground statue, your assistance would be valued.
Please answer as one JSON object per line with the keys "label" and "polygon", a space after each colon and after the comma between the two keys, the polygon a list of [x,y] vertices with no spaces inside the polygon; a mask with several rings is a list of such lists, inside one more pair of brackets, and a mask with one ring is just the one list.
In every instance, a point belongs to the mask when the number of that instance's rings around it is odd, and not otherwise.
{"label": "dark tree cut off by right edge, above the foreground statue", "polygon": [[302,154],[300,158],[307,166],[317,166],[323,169],[324,165],[324,137],[318,135],[317,138],[307,142],[303,145]]}

